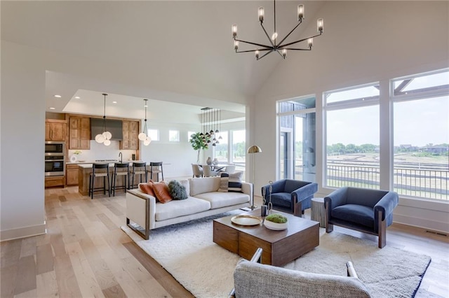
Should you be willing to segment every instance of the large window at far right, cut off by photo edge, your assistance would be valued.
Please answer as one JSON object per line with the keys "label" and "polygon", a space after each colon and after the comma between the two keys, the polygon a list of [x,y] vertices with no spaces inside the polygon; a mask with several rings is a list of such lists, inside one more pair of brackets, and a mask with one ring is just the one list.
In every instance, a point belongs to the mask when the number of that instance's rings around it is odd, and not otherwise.
{"label": "large window at far right, cut off by photo edge", "polygon": [[449,71],[391,80],[394,191],[448,200]]}

